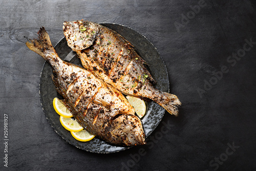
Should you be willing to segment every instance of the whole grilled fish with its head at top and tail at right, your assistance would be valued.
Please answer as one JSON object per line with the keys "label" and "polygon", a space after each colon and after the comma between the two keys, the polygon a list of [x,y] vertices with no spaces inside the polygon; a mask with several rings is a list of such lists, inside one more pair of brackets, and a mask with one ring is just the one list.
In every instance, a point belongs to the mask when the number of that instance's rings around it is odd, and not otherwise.
{"label": "whole grilled fish with its head at top and tail at right", "polygon": [[76,51],[82,65],[123,94],[150,98],[178,116],[181,102],[177,96],[155,89],[145,61],[131,43],[115,31],[84,20],[63,23],[69,47]]}

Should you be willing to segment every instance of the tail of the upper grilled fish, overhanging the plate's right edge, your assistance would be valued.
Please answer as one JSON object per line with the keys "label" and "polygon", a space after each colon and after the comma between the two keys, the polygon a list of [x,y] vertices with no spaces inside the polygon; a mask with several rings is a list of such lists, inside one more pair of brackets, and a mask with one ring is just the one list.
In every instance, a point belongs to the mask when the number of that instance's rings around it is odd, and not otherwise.
{"label": "tail of the upper grilled fish, overhanging the plate's right edge", "polygon": [[159,91],[159,96],[154,100],[168,113],[178,116],[178,107],[181,105],[181,102],[176,95]]}

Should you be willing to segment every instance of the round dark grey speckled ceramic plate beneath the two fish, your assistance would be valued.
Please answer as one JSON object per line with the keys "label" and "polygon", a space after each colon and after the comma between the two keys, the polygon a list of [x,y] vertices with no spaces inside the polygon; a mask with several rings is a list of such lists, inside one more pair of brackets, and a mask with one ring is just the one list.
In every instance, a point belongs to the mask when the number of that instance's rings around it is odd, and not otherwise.
{"label": "round dark grey speckled ceramic plate beneath the two fish", "polygon": [[[109,27],[122,35],[125,39],[134,45],[137,53],[148,63],[148,70],[151,72],[153,78],[157,81],[155,87],[161,91],[169,92],[169,80],[164,62],[153,44],[148,41],[140,33],[133,29],[117,24],[102,24]],[[80,60],[75,52],[68,47],[66,38],[62,38],[54,47],[59,57],[63,60],[68,60],[72,63],[81,66]],[[67,142],[81,148],[88,152],[93,153],[115,153],[123,151],[129,147],[115,146],[102,141],[101,139],[94,138],[89,142],[80,142],[74,139],[69,131],[67,131],[59,122],[59,115],[54,111],[52,101],[54,97],[62,99],[56,92],[54,84],[51,80],[52,68],[45,62],[41,72],[40,80],[40,99],[42,109],[46,118],[52,125],[53,129]],[[148,137],[157,127],[161,121],[165,110],[156,102],[151,101],[147,103],[146,114],[142,118],[142,124],[146,137]]]}

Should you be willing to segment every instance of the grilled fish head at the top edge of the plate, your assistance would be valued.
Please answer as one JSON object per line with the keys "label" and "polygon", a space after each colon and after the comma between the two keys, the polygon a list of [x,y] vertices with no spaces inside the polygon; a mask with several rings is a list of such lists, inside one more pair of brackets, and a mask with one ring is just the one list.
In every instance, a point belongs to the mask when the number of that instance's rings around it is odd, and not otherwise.
{"label": "grilled fish head at the top edge of the plate", "polygon": [[63,33],[68,46],[73,50],[83,50],[93,45],[99,32],[98,24],[84,20],[63,23]]}

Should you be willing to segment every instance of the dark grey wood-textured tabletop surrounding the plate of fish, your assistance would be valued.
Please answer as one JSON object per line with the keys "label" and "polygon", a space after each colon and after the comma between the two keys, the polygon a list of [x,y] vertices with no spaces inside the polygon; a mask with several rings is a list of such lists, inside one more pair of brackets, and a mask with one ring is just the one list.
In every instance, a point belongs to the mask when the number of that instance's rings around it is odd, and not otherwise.
{"label": "dark grey wood-textured tabletop surrounding the plate of fish", "polygon": [[[190,6],[201,2],[1,1],[0,169],[255,170],[256,45],[240,60],[229,56],[243,52],[245,39],[256,42],[256,3],[205,0],[193,15]],[[63,37],[63,21],[76,19],[133,28],[161,54],[170,92],[183,104],[179,117],[165,113],[148,145],[93,154],[70,145],[48,123],[38,93],[44,59],[25,46],[24,36],[36,37],[44,26],[55,45]],[[177,29],[175,24],[182,22]],[[216,81],[213,73],[223,66],[228,72]],[[205,81],[214,86],[204,88]],[[205,91],[201,97],[198,90]],[[4,114],[8,168],[3,162]],[[166,134],[160,134],[163,122],[172,124]],[[236,146],[233,152],[228,144]]]}

